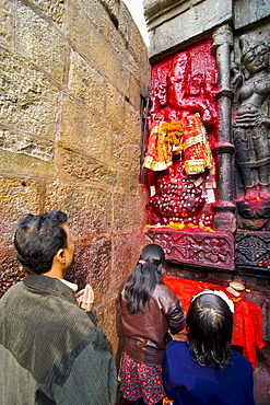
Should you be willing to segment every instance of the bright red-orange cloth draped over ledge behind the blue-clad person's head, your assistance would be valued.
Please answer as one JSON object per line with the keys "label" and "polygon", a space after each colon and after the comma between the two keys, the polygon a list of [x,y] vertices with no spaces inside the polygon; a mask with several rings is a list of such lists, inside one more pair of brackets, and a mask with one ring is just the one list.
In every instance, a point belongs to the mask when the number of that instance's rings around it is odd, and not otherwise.
{"label": "bright red-orange cloth draped over ledge behind the blue-clad person's head", "polygon": [[163,277],[163,281],[180,300],[187,312],[191,299],[206,288],[224,291],[234,301],[234,329],[232,345],[243,348],[243,356],[256,368],[256,346],[260,349],[265,346],[262,340],[262,316],[260,308],[247,301],[245,294],[234,297],[223,286],[204,281],[186,280],[177,277]]}

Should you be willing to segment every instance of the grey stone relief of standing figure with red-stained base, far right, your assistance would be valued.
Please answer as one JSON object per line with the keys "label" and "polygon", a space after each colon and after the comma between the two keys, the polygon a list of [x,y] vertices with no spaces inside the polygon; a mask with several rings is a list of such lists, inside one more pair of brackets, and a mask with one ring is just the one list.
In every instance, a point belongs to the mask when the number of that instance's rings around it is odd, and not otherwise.
{"label": "grey stone relief of standing figure with red-stained base, far right", "polygon": [[268,229],[270,218],[270,70],[269,40],[239,37],[239,62],[232,66],[235,91],[236,204],[239,228]]}

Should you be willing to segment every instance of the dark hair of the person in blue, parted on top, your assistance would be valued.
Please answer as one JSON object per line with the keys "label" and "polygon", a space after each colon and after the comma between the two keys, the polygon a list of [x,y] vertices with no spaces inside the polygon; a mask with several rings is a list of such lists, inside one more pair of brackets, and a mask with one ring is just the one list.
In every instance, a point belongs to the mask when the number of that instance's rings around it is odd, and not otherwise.
{"label": "dark hair of the person in blue, parted on top", "polygon": [[187,331],[189,350],[199,364],[227,366],[233,314],[221,297],[203,293],[196,298],[188,310]]}

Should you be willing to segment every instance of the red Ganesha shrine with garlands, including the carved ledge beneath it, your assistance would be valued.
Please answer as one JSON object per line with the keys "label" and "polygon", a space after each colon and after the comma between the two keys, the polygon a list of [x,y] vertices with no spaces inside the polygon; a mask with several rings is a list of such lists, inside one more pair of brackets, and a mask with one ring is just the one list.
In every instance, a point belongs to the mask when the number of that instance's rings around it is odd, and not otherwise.
{"label": "red Ganesha shrine with garlands, including the carved ledge beneath it", "polygon": [[[159,240],[169,259],[233,269],[232,234],[213,229],[218,91],[211,40],[152,67],[143,162],[150,193],[146,238],[154,243]],[[196,252],[199,245],[210,250],[209,255],[202,248]],[[218,257],[225,258],[222,263]]]}

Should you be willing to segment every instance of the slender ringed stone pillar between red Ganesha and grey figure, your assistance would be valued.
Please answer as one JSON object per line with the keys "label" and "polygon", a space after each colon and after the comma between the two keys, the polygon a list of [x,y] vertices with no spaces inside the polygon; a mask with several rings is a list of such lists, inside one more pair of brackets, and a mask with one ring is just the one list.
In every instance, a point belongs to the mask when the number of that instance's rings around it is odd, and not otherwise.
{"label": "slender ringed stone pillar between red Ganesha and grey figure", "polygon": [[234,232],[236,229],[235,205],[233,202],[233,174],[232,155],[234,146],[231,143],[231,120],[233,92],[230,88],[231,48],[233,34],[228,25],[215,30],[213,34],[213,51],[215,53],[219,71],[219,92],[216,99],[220,102],[219,118],[220,131],[219,143],[215,148],[218,162],[218,201],[213,208],[214,229],[223,232]]}

